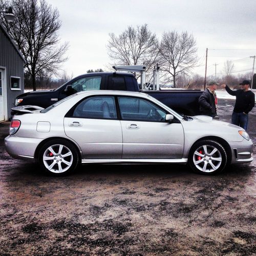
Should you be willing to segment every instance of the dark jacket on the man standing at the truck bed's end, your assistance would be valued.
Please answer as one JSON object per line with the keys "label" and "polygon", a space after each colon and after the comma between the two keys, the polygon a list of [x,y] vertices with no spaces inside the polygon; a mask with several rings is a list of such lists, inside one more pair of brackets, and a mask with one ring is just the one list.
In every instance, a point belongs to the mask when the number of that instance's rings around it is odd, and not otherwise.
{"label": "dark jacket on the man standing at the truck bed's end", "polygon": [[209,89],[205,89],[202,95],[199,97],[199,105],[200,105],[200,114],[206,116],[216,116],[216,105],[215,105],[215,97],[209,91]]}

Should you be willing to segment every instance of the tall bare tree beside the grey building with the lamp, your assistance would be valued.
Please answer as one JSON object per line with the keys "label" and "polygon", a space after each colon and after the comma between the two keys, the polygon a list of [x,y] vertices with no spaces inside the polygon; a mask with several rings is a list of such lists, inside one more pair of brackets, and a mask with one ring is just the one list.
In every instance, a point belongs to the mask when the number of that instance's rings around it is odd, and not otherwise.
{"label": "tall bare tree beside the grey building with the lamp", "polygon": [[26,59],[25,69],[35,91],[36,77],[58,75],[59,66],[67,60],[69,44],[60,45],[57,34],[61,27],[59,13],[45,0],[2,0],[2,8],[7,5],[12,6],[15,21],[11,26],[5,19],[2,23]]}

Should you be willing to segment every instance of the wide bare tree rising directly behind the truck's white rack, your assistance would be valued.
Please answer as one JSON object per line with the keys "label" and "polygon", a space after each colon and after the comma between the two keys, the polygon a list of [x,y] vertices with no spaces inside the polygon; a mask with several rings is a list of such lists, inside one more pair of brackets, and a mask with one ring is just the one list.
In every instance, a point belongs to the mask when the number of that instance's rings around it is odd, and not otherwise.
{"label": "wide bare tree rising directly behind the truck's white rack", "polygon": [[158,39],[148,30],[147,25],[129,26],[123,33],[116,36],[109,34],[106,46],[113,65],[144,65],[147,70],[158,62]]}

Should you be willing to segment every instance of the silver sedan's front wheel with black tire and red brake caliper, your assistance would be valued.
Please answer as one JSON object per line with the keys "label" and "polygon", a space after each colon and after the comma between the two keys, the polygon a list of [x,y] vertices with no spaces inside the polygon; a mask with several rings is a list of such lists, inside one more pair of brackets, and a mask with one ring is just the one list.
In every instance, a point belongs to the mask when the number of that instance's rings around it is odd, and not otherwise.
{"label": "silver sedan's front wheel with black tire and red brake caliper", "polygon": [[219,142],[202,140],[191,147],[188,162],[194,172],[214,175],[222,172],[226,167],[227,154]]}

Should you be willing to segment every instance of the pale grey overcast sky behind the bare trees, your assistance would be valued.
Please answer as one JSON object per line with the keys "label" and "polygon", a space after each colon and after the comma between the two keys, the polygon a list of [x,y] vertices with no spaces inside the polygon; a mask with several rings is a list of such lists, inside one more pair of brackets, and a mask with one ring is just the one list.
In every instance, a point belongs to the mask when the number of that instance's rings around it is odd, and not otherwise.
{"label": "pale grey overcast sky behind the bare trees", "polygon": [[[106,52],[109,33],[119,35],[127,26],[147,24],[161,38],[163,32],[187,31],[197,41],[198,67],[204,75],[224,73],[224,62],[232,60],[234,74],[252,71],[256,55],[256,0],[48,0],[60,14],[61,41],[69,41],[68,75],[112,65]],[[214,50],[215,49],[215,50]],[[142,64],[142,63],[141,63]],[[255,63],[256,68],[256,63]]]}

